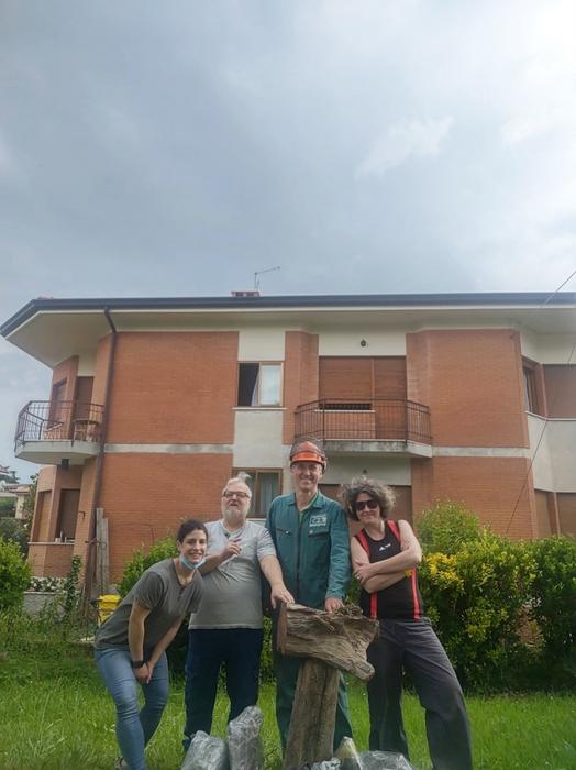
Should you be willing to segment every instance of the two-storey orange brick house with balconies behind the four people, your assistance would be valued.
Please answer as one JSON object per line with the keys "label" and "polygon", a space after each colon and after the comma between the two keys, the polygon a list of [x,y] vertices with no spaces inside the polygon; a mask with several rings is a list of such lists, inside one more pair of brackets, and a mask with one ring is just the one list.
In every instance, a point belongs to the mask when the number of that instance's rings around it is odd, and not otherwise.
{"label": "two-storey orange brick house with balconies behind the four people", "polygon": [[54,372],[15,436],[47,465],[38,575],[86,558],[96,507],[113,579],[180,518],[217,518],[235,471],[264,516],[299,437],[324,441],[329,495],[367,473],[403,517],[452,498],[514,538],[576,534],[573,293],[37,299],[0,332]]}

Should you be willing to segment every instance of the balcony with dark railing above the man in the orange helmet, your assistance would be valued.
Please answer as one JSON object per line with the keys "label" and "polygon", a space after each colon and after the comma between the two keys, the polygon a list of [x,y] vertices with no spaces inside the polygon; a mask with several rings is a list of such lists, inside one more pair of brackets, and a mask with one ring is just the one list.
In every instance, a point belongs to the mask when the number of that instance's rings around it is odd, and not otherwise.
{"label": "balcony with dark railing above the man in the orange helmet", "polygon": [[403,399],[331,398],[296,409],[295,440],[314,438],[332,453],[432,457],[430,409]]}

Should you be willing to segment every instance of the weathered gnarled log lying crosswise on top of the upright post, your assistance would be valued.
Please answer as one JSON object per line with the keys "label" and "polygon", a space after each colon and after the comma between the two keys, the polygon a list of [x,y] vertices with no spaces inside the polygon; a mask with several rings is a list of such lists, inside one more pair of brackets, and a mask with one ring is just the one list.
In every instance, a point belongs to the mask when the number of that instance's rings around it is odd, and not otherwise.
{"label": "weathered gnarled log lying crosswise on top of the upright post", "polygon": [[289,604],[280,609],[277,646],[283,654],[315,658],[367,682],[374,669],[366,648],[377,632],[378,622],[364,617],[358,607],[325,613]]}

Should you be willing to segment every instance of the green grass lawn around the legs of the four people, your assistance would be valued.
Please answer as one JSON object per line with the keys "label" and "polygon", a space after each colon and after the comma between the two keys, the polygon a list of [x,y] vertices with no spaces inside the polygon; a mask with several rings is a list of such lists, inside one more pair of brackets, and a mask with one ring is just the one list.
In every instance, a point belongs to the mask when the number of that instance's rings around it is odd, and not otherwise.
{"label": "green grass lawn around the legs of the four people", "polygon": [[[279,768],[274,688],[262,690],[267,767]],[[469,697],[476,770],[576,770],[576,695]],[[366,698],[351,688],[358,748],[366,748]],[[214,732],[225,730],[226,704],[219,697]],[[423,712],[407,696],[405,721],[412,761],[428,770]],[[42,646],[0,659],[1,770],[111,770],[117,746],[112,701],[90,650],[64,646],[58,657]],[[163,723],[148,749],[151,770],[180,766],[182,686],[173,686]]]}

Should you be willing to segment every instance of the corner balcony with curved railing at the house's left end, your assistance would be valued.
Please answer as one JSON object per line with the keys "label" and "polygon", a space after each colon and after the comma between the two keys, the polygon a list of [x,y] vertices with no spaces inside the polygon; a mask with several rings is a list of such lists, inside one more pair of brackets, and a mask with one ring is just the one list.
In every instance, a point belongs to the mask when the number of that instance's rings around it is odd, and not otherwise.
{"label": "corner balcony with curved railing at the house's left end", "polygon": [[81,465],[99,452],[102,413],[99,404],[30,402],[18,416],[14,454],[45,465]]}

